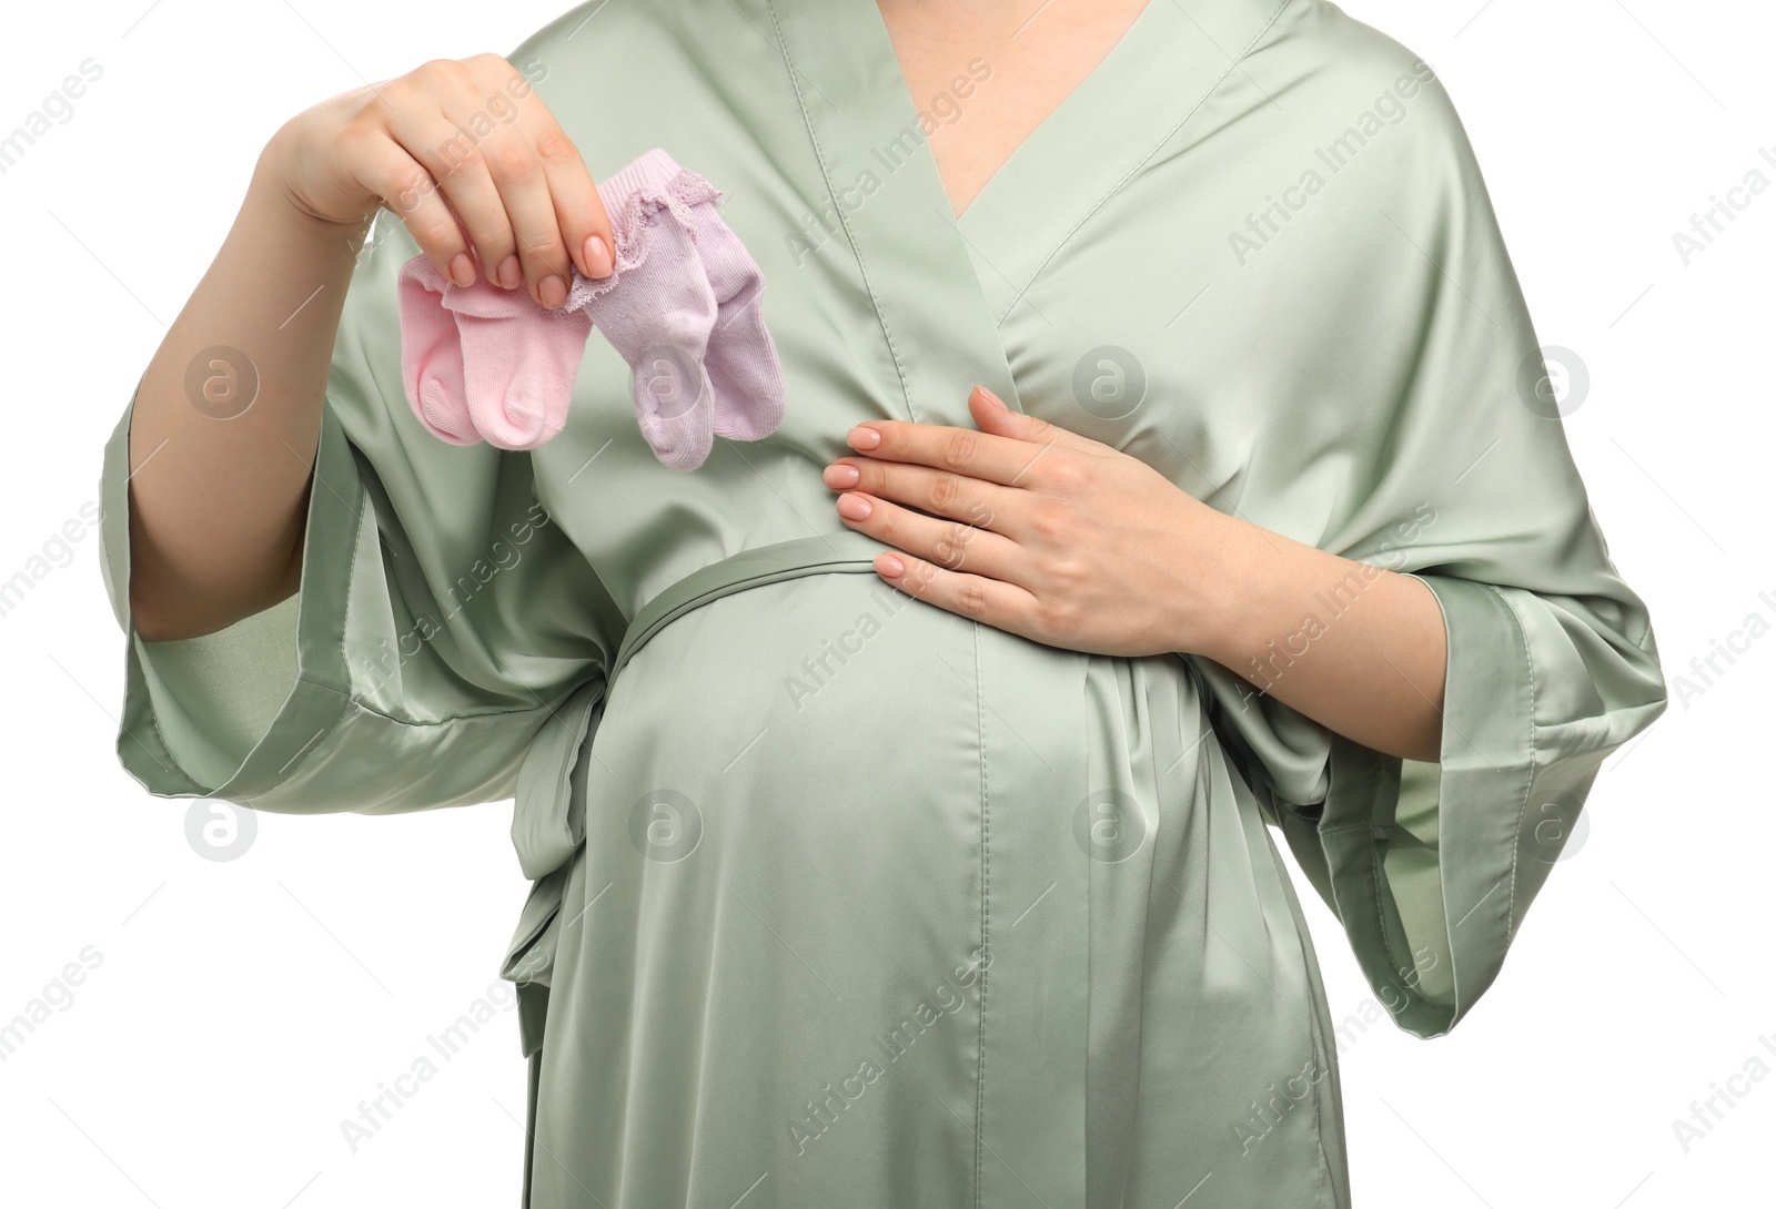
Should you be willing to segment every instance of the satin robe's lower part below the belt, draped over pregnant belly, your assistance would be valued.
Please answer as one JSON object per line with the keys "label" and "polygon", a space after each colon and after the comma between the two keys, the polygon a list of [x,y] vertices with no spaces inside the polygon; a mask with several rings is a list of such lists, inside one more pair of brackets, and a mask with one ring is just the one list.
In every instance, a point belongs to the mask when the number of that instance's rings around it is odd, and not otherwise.
{"label": "satin robe's lower part below the belt, draped over pregnant belly", "polygon": [[[1206,724],[1176,657],[1044,646],[874,573],[673,618],[583,763],[538,1143],[646,1204],[726,1204],[762,1170],[781,1204],[950,1204],[1067,1186],[1082,1122],[1128,1145],[1087,1118],[1089,1071],[1096,1104],[1138,1088],[1225,1133],[1249,1072],[1300,1069],[1316,1030],[1275,850]],[[1154,994],[1160,1035],[1193,1040],[1142,1069]],[[1241,1104],[1204,1099],[1211,1060],[1247,1072]]]}

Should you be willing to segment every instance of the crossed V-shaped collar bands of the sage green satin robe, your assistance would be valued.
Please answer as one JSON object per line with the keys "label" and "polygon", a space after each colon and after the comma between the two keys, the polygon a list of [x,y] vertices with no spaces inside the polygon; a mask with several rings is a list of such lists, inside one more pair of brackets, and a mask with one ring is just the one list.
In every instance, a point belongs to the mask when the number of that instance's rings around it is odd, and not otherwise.
{"label": "crossed V-shaped collar bands of the sage green satin robe", "polygon": [[[1289,4],[1149,0],[957,217],[876,0],[764,2],[824,176],[826,197],[810,201],[856,254],[906,417],[957,428],[975,428],[975,383],[1028,410],[1000,325],[1019,305],[1034,311],[1027,293],[1044,265]],[[1179,82],[1165,105],[1126,87],[1156,73]]]}

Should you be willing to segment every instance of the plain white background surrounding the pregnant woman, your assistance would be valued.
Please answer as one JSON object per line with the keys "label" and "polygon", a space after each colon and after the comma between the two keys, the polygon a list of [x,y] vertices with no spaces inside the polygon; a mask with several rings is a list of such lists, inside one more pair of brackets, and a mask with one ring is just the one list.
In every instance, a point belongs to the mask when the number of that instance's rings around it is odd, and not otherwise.
{"label": "plain white background surrounding the pregnant woman", "polygon": [[[0,176],[0,579],[96,501],[105,439],[266,137],[426,59],[508,53],[559,11],[9,5],[0,130],[87,57],[103,78]],[[1538,334],[1588,367],[1568,439],[1671,685],[1668,714],[1606,765],[1588,831],[1474,1012],[1439,1040],[1384,1017],[1348,1046],[1357,1205],[1771,1204],[1776,1078],[1735,1081],[1749,1094],[1687,1152],[1673,1120],[1753,1055],[1776,1072],[1758,1040],[1776,1046],[1764,893],[1776,634],[1721,676],[1691,669],[1749,614],[1776,623],[1776,188],[1687,266],[1673,233],[1751,169],[1776,183],[1758,156],[1776,156],[1776,20],[1762,4],[1678,0],[1346,11],[1442,76]],[[0,1062],[0,1200],[515,1204],[524,1067],[510,1012],[355,1154],[339,1129],[428,1035],[504,989],[496,966],[527,889],[510,804],[265,815],[245,856],[202,859],[190,802],[147,795],[114,755],[124,648],[96,531],[64,561],[0,618],[0,1021],[87,946],[99,964]],[[1341,1019],[1368,987],[1330,913],[1296,886]]]}

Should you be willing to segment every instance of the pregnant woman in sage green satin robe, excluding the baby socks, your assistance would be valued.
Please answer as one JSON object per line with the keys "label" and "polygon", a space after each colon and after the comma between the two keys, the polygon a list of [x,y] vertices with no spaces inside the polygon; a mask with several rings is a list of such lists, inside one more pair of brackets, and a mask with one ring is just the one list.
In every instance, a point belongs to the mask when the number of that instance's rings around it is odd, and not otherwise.
{"label": "pregnant woman in sage green satin robe, excluding the baby socks", "polygon": [[[664,465],[591,336],[547,442],[428,431],[403,265],[561,307],[655,147],[781,423]],[[515,799],[533,1209],[1348,1205],[1272,831],[1437,1037],[1666,705],[1449,98],[1325,0],[590,4],[327,101],[103,476],[151,794]]]}

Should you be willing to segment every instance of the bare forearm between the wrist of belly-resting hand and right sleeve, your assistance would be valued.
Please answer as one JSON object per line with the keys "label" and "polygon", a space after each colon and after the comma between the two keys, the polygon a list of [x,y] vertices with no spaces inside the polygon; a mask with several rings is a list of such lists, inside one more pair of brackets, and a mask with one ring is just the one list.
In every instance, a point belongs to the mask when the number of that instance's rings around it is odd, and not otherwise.
{"label": "bare forearm between the wrist of belly-resting hand and right sleeve", "polygon": [[1421,581],[1229,518],[1234,568],[1202,653],[1376,751],[1437,762],[1447,641]]}

